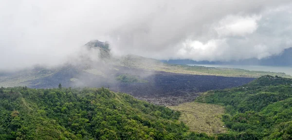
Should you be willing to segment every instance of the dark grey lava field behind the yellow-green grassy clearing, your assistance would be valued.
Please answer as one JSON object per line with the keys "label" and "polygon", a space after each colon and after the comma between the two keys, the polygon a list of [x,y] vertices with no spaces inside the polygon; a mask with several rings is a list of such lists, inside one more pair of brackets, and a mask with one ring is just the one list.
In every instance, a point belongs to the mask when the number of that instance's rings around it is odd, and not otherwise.
{"label": "dark grey lava field behind the yellow-green grassy clearing", "polygon": [[237,87],[254,79],[155,72],[145,80],[149,82],[120,83],[110,89],[155,104],[177,105],[195,100],[201,92]]}

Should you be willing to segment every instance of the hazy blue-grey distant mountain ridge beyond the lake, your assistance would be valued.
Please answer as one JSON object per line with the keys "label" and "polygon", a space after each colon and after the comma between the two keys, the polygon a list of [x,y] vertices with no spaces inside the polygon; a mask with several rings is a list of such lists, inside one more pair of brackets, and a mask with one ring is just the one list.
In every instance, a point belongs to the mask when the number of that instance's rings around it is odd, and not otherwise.
{"label": "hazy blue-grey distant mountain ridge beyond the lake", "polygon": [[232,64],[232,65],[267,65],[267,66],[292,66],[292,48],[285,49],[281,54],[263,59],[245,59],[232,61],[195,61],[195,60],[161,60],[169,64]]}

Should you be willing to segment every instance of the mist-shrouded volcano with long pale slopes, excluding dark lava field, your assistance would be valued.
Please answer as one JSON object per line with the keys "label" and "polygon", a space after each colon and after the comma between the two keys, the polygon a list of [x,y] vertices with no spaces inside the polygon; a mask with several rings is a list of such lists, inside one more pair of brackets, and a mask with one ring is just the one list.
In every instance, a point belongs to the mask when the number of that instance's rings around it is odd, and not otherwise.
{"label": "mist-shrouded volcano with long pale slopes, excluding dark lava field", "polygon": [[[28,68],[14,72],[0,70],[0,86],[51,88],[58,83],[62,83],[66,87],[73,87],[76,85],[89,86],[86,81],[91,79],[91,77],[100,79],[101,81],[99,83],[105,83],[105,81],[114,83],[117,81],[115,78],[118,75],[134,73],[133,76],[139,76],[141,75],[141,70],[146,71],[148,74],[149,71],[153,73],[156,71],[163,71],[177,74],[224,77],[258,78],[264,75],[277,75],[280,77],[292,78],[292,76],[286,75],[285,73],[166,64],[159,60],[135,55],[113,57],[110,53],[110,44],[99,40],[91,40],[82,47],[86,48],[88,51],[80,53],[80,56],[73,58],[72,61],[64,62],[64,64],[59,66],[36,66],[35,68]],[[96,54],[87,55],[86,53],[89,52]],[[94,57],[91,58],[92,56]],[[96,59],[95,56],[97,56],[98,59]],[[145,77],[147,76],[142,74],[142,77],[139,77],[139,79],[143,80]]]}

